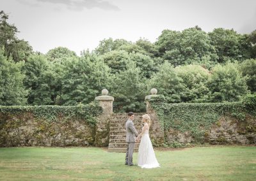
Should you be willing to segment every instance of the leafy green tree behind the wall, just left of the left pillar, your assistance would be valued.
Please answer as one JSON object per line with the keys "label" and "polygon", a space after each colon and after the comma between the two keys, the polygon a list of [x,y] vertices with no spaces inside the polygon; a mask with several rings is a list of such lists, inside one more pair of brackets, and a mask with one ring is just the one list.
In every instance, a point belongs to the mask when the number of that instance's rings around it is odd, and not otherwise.
{"label": "leafy green tree behind the wall, just left of the left pillar", "polygon": [[90,57],[67,59],[62,78],[61,105],[87,104],[95,99],[99,92],[111,85],[110,69],[101,59]]}

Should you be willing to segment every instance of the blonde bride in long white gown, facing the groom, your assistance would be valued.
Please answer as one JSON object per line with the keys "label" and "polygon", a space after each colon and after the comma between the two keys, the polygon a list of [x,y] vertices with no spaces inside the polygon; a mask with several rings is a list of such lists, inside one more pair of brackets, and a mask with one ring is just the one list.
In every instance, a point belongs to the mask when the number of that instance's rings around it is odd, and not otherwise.
{"label": "blonde bride in long white gown, facing the groom", "polygon": [[152,147],[152,143],[149,138],[148,130],[150,127],[150,117],[148,114],[142,116],[144,126],[142,132],[137,137],[136,141],[140,141],[139,153],[138,153],[138,166],[141,168],[156,168],[160,167],[157,162],[155,152]]}

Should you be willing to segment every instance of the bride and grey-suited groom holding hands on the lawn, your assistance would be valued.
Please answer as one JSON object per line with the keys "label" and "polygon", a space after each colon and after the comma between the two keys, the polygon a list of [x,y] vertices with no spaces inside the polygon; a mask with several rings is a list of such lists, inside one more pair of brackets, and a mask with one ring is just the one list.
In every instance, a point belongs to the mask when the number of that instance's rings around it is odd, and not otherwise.
{"label": "bride and grey-suited groom holding hands on the lawn", "polygon": [[137,130],[135,129],[132,120],[134,120],[134,113],[129,112],[128,120],[125,123],[126,142],[128,144],[126,156],[125,156],[125,164],[129,166],[134,165],[132,163],[132,154],[135,147],[135,142],[138,142],[141,138],[139,152],[138,152],[138,166],[140,166],[141,168],[159,167],[159,163],[157,162],[155,152],[152,147],[152,143],[150,141],[150,137],[148,134],[149,127],[150,127],[149,115],[145,114],[142,116],[143,127],[140,134],[138,134]]}

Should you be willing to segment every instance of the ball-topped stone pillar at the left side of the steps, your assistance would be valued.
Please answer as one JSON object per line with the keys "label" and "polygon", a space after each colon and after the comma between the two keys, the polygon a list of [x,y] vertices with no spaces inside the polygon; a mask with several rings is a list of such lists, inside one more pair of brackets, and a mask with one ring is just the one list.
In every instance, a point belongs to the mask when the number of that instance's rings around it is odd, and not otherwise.
{"label": "ball-topped stone pillar at the left side of the steps", "polygon": [[113,101],[112,96],[108,96],[108,90],[102,90],[102,96],[97,96],[96,101],[99,101],[99,105],[102,107],[102,114],[98,117],[95,133],[95,146],[108,147],[109,143],[109,121],[113,113]]}

